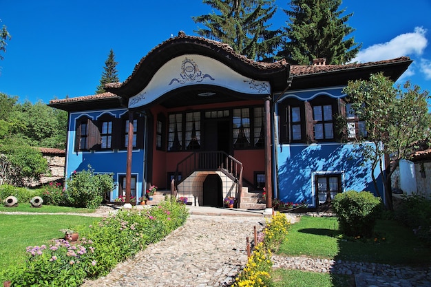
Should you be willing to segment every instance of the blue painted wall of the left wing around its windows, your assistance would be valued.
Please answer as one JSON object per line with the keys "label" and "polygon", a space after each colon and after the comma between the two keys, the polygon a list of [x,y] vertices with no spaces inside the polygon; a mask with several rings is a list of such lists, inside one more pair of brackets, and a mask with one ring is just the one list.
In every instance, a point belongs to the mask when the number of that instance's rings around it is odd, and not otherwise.
{"label": "blue painted wall of the left wing around its windows", "polygon": [[[127,112],[127,109],[115,109],[107,111],[82,111],[70,113],[69,129],[67,131],[67,159],[66,159],[66,175],[67,178],[74,171],[82,171],[88,169],[90,164],[94,173],[112,173],[114,182],[116,182],[116,189],[111,193],[111,200],[118,196],[119,177],[126,174],[127,151],[124,149],[113,151],[74,151],[75,147],[75,134],[76,134],[76,119],[85,115],[93,120],[97,120],[103,114],[110,114],[115,118],[120,118]],[[144,179],[144,149],[136,149],[132,153],[132,176],[136,176],[138,193],[137,199],[143,195],[143,186],[145,186]]]}

